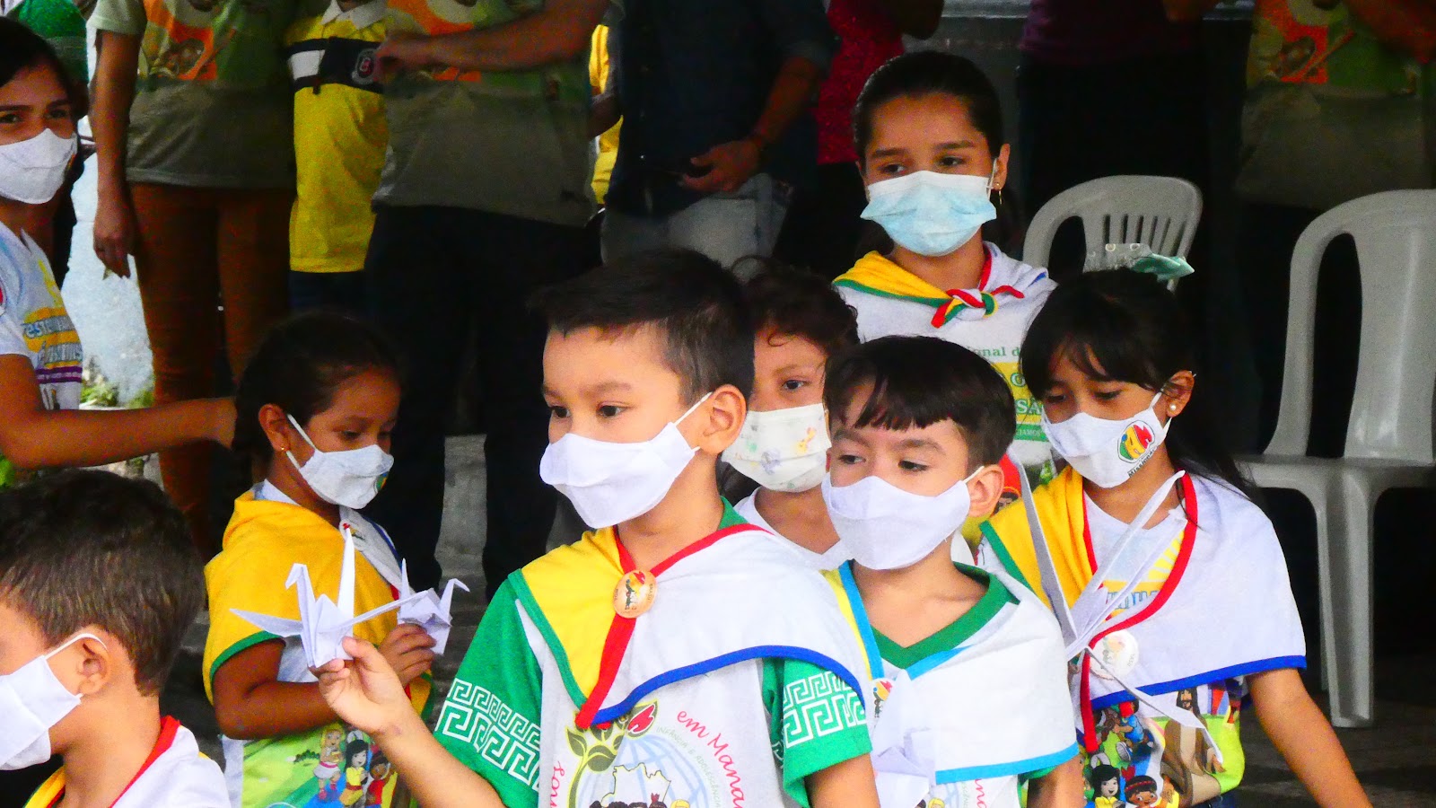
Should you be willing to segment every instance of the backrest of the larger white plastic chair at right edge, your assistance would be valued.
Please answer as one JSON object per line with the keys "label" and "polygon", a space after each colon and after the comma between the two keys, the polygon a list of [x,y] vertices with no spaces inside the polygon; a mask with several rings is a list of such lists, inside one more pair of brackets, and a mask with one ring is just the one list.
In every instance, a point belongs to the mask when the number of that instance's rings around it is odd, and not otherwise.
{"label": "backrest of the larger white plastic chair at right edge", "polygon": [[[1281,410],[1267,454],[1307,453],[1317,273],[1327,247],[1341,234],[1356,240],[1361,272],[1361,345],[1346,456],[1430,464],[1436,191],[1387,191],[1348,201],[1317,217],[1297,240]],[[1357,316],[1356,306],[1350,316]]]}

